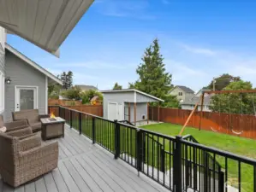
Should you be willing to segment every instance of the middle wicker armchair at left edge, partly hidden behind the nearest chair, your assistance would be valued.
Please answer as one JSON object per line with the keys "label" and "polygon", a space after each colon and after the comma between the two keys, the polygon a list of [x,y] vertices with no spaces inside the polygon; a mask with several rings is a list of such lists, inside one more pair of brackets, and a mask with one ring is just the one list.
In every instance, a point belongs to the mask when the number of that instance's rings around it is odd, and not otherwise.
{"label": "middle wicker armchair at left edge, partly hidden behind the nearest chair", "polygon": [[13,121],[13,122],[9,122],[9,123],[4,123],[3,122],[3,115],[0,115],[0,127],[6,127],[6,131],[18,131],[24,128],[27,128],[29,125],[27,124],[27,120],[26,119],[22,119],[22,120],[17,120],[17,121]]}

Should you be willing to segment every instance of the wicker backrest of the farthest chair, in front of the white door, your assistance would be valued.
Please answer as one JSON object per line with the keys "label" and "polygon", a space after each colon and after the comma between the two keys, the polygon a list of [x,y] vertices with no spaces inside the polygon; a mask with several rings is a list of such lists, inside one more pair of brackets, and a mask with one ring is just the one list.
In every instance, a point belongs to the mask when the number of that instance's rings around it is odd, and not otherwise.
{"label": "wicker backrest of the farthest chair, in front of the white door", "polygon": [[39,122],[39,109],[22,110],[13,112],[14,120],[27,119],[29,124]]}

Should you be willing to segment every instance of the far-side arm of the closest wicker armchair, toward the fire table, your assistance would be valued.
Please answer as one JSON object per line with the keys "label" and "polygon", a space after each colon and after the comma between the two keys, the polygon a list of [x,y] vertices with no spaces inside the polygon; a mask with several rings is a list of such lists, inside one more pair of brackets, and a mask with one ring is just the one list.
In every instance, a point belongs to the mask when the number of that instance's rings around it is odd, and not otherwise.
{"label": "far-side arm of the closest wicker armchair, toward the fire table", "polygon": [[20,140],[20,151],[27,151],[41,146],[41,137],[31,136]]}

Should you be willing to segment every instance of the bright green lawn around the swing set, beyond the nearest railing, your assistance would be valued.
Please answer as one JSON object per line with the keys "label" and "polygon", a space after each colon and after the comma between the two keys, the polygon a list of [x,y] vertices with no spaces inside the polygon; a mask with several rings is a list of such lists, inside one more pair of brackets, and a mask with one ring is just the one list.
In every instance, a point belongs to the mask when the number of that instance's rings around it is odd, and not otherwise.
{"label": "bright green lawn around the swing set, beyond the nearest railing", "polygon": [[[143,129],[149,131],[160,132],[169,136],[176,136],[182,129],[181,125],[172,124],[156,124],[145,125]],[[221,134],[213,131],[199,131],[192,127],[187,127],[183,135],[190,134],[195,137],[199,143],[206,146],[229,151],[233,154],[240,154],[250,158],[256,158],[256,141],[243,137],[235,137]],[[217,161],[224,168],[225,160],[221,156],[217,156]],[[228,161],[228,180],[229,185],[238,186],[238,163],[235,160]],[[242,191],[253,191],[253,166],[241,164],[241,189]]]}

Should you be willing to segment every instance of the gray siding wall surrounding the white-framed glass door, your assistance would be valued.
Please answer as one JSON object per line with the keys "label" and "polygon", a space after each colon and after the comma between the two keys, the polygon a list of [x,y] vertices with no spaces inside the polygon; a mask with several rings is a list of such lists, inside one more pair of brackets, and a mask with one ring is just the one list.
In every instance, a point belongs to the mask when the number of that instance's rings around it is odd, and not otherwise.
{"label": "gray siding wall surrounding the white-framed glass door", "polygon": [[15,111],[15,85],[38,86],[39,113],[45,113],[45,75],[9,51],[5,60],[5,76],[11,79],[11,84],[5,84],[5,120],[11,120]]}

